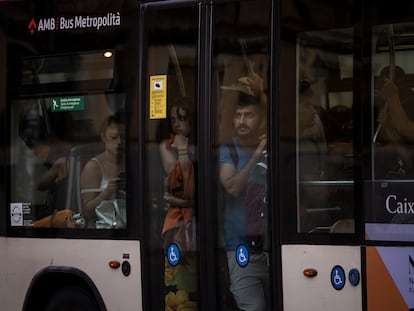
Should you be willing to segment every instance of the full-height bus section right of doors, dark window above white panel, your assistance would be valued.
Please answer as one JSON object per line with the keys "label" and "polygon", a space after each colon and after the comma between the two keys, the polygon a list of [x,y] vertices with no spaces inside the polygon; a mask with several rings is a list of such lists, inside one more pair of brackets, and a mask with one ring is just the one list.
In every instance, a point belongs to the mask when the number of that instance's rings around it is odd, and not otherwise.
{"label": "full-height bus section right of doors, dark window above white panel", "polygon": [[363,310],[353,1],[281,1],[283,310]]}

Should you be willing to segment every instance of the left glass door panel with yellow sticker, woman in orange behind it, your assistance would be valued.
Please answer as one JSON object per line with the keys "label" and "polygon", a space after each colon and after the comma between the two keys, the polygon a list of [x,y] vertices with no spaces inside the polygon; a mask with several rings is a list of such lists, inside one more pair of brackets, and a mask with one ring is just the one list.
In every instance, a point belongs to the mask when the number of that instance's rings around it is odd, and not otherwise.
{"label": "left glass door panel with yellow sticker, woman in orange behind it", "polygon": [[146,13],[150,308],[197,310],[198,8]]}

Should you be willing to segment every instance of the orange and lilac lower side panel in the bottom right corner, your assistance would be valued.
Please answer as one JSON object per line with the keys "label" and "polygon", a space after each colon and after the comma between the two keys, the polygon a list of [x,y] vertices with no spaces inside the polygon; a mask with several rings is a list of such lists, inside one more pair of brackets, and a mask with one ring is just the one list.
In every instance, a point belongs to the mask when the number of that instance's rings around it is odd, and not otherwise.
{"label": "orange and lilac lower side panel in the bottom right corner", "polygon": [[414,248],[367,247],[367,310],[414,309]]}

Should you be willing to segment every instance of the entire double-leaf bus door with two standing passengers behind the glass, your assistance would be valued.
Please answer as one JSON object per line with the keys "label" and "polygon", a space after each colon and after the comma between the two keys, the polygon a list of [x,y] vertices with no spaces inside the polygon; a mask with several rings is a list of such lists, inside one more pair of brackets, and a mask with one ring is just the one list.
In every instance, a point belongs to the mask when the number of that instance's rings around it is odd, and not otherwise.
{"label": "entire double-leaf bus door with two standing passengers behind the glass", "polygon": [[[279,303],[266,192],[271,8],[257,0],[142,6],[149,310]],[[244,167],[232,193],[228,180]],[[249,233],[247,184],[259,211]]]}

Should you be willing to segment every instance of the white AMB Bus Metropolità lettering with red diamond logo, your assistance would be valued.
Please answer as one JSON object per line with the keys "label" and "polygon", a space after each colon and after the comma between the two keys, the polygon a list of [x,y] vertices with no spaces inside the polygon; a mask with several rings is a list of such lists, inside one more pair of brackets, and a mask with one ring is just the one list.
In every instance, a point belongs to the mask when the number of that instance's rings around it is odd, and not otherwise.
{"label": "white AMB Bus Metropolit\u00e0 lettering with red diamond logo", "polygon": [[117,27],[121,25],[121,14],[107,13],[101,16],[58,16],[46,18],[32,18],[27,28],[31,34],[35,32],[60,31],[73,29],[96,29]]}

